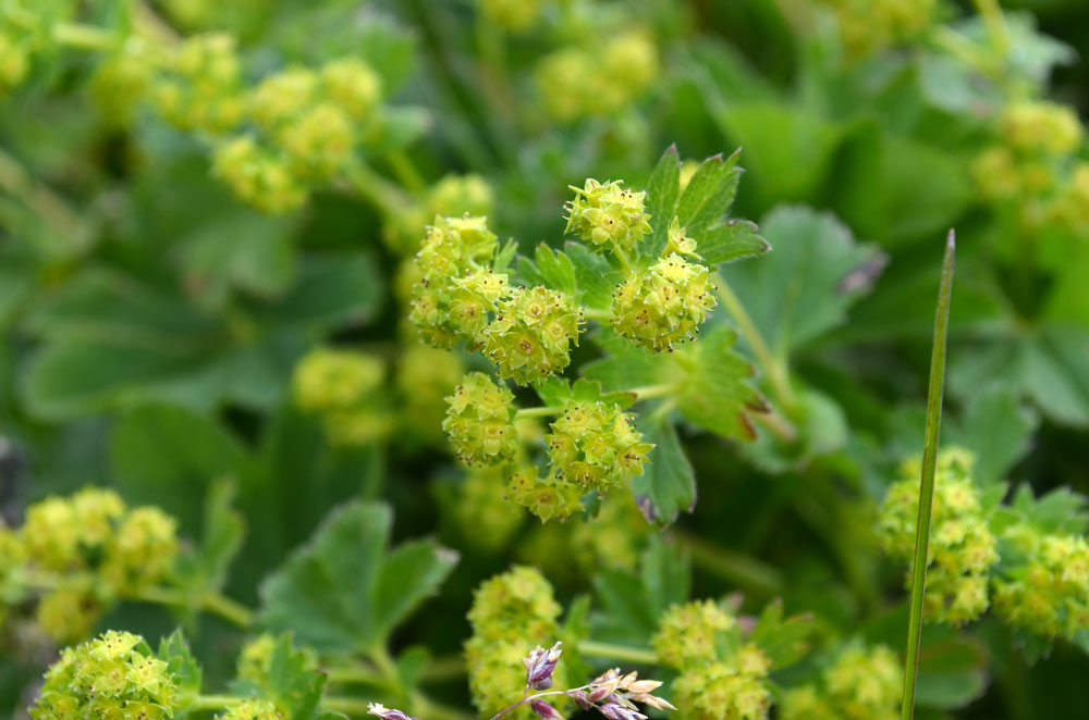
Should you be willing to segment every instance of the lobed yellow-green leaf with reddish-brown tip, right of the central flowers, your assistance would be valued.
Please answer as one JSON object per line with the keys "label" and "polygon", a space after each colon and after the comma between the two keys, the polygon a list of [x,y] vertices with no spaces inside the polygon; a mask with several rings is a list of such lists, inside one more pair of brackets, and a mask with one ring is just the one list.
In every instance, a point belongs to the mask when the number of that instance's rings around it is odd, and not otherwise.
{"label": "lobed yellow-green leaf with reddish-brown tip, right of the central flowers", "polygon": [[719,326],[706,333],[683,353],[675,353],[684,368],[677,390],[677,408],[685,419],[723,437],[756,438],[749,411],[766,408],[749,384],[754,374],[747,360],[733,351],[736,335]]}

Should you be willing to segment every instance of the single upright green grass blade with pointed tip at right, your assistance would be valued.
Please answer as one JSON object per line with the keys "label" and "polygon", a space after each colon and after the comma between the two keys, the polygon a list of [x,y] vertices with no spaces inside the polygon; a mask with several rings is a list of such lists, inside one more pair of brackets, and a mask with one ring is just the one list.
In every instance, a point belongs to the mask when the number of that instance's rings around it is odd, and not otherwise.
{"label": "single upright green grass blade with pointed tip at right", "polygon": [[927,430],[922,447],[922,477],[919,487],[919,519],[915,533],[915,564],[911,567],[911,617],[907,629],[907,657],[904,667],[902,720],[915,715],[915,686],[919,673],[919,646],[922,636],[922,594],[927,585],[927,557],[930,549],[930,513],[934,501],[934,474],[938,467],[938,437],[942,424],[942,393],[945,387],[945,343],[949,335],[950,301],[953,294],[953,260],[956,237],[950,231],[934,314],[934,344],[930,358],[930,386],[927,390]]}

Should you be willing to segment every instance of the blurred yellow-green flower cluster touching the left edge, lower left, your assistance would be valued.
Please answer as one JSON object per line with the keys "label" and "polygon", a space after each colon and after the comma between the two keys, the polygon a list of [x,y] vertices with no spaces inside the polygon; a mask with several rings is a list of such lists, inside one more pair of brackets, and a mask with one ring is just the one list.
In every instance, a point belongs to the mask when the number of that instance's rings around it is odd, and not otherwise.
{"label": "blurred yellow-green flower cluster touching the left edge, lower left", "polygon": [[178,555],[176,522],[86,488],[32,505],[17,530],[0,527],[0,594],[37,599],[35,622],[58,642],[86,637],[108,605],[164,580]]}

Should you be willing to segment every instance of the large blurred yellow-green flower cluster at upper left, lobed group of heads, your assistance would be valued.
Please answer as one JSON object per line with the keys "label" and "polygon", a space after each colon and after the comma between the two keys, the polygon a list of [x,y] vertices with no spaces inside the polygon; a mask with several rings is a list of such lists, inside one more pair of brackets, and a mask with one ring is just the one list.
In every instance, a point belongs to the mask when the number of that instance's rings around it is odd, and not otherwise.
{"label": "large blurred yellow-green flower cluster at upper left, lobed group of heads", "polygon": [[351,162],[376,122],[381,78],[362,60],[343,58],[317,71],[285,69],[237,98],[250,132],[217,148],[215,172],[246,202],[289,212]]}

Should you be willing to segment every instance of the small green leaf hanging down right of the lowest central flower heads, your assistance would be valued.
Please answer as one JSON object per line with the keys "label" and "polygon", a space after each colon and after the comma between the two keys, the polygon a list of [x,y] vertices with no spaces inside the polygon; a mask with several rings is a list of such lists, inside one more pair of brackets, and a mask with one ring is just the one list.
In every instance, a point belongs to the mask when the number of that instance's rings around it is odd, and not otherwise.
{"label": "small green leaf hanging down right of the lowest central flower heads", "polygon": [[654,449],[643,474],[632,479],[632,492],[648,522],[668,525],[696,507],[696,475],[666,418],[656,413],[639,429]]}

